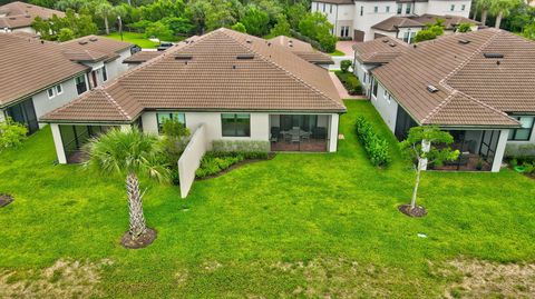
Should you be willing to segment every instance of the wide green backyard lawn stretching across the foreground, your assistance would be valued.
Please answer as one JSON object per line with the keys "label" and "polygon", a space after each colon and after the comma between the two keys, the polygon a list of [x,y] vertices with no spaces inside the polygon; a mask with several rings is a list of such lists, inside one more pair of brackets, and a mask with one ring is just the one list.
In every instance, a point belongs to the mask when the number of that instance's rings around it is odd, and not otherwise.
{"label": "wide green backyard lawn stretching across the foreground", "polygon": [[[450,260],[535,261],[534,180],[508,170],[427,172],[420,203],[429,215],[410,219],[397,206],[409,200],[414,173],[399,158],[372,168],[356,117],[393,137],[369,102],[347,106],[338,153],[278,155],[196,182],[186,200],[142,180],[158,231],[142,250],[119,245],[123,179],[55,166],[50,130],[40,131],[0,155],[0,193],[16,197],[0,209],[0,297],[45,280],[62,291],[99,281],[85,289],[108,298],[437,298],[461,278]],[[113,263],[81,281],[37,271],[59,259]]]}

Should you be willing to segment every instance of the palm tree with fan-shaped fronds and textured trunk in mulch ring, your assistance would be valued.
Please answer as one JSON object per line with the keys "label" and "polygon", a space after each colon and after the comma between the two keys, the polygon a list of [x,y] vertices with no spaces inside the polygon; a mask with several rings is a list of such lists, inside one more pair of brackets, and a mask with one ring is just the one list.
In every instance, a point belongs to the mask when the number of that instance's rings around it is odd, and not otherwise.
{"label": "palm tree with fan-shaped fronds and textured trunk in mulch ring", "polygon": [[127,248],[148,246],[156,235],[145,223],[138,175],[146,173],[159,181],[168,180],[168,169],[160,159],[157,137],[138,129],[111,129],[91,139],[86,151],[89,156],[87,167],[105,173],[126,175],[129,230],[123,238],[123,245]]}

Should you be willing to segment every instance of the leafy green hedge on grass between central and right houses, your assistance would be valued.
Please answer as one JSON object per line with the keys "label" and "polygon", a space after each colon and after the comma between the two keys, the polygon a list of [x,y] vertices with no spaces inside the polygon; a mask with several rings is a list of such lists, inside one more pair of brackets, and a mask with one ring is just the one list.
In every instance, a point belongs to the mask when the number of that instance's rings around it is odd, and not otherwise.
{"label": "leafy green hedge on grass between central and right houses", "polygon": [[373,166],[387,166],[390,162],[388,141],[379,137],[371,123],[364,118],[357,118],[357,137],[368,153]]}

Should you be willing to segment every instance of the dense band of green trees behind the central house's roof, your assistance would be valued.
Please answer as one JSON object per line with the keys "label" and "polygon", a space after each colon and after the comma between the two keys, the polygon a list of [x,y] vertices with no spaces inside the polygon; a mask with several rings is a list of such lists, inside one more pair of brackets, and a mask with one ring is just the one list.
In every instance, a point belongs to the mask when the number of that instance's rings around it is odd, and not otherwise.
{"label": "dense band of green trees behind the central house's roof", "polygon": [[67,12],[66,18],[36,19],[33,28],[47,40],[68,40],[109,34],[118,28],[147,38],[176,41],[193,34],[226,27],[269,38],[298,36],[327,52],[335,50],[337,38],[327,17],[310,12],[308,0],[31,0],[33,4]]}

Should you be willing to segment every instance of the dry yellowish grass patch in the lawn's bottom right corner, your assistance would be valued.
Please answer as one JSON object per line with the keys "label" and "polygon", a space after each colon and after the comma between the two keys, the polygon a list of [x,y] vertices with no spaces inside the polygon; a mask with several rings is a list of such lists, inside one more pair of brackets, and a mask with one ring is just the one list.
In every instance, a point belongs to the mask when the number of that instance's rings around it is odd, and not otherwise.
{"label": "dry yellowish grass patch in the lawn's bottom right corner", "polygon": [[535,298],[535,265],[495,263],[483,260],[449,262],[463,273],[446,298]]}

